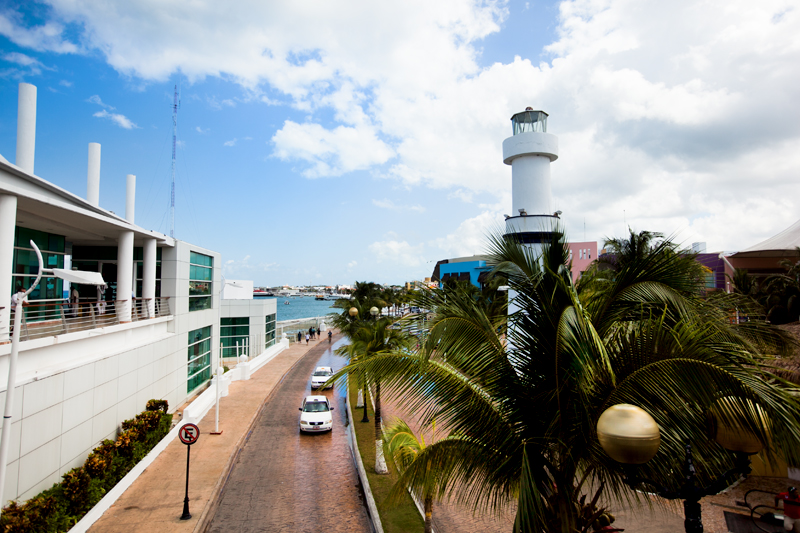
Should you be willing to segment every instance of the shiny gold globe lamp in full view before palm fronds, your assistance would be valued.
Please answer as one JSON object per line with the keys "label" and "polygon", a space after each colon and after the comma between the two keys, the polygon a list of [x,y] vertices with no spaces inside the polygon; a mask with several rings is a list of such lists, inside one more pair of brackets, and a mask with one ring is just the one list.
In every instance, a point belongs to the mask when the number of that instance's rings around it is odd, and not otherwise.
{"label": "shiny gold globe lamp in full view before palm fronds", "polygon": [[615,461],[638,465],[656,454],[661,444],[661,432],[647,411],[635,405],[619,404],[600,415],[597,440]]}

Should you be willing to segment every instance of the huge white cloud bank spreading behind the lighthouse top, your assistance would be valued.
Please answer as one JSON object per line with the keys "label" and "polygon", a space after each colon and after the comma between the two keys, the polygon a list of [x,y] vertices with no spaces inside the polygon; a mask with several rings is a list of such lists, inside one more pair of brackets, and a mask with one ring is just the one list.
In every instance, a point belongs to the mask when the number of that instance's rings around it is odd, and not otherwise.
{"label": "huge white cloud bank spreading behind the lighthouse top", "polygon": [[98,51],[145,81],[177,71],[232,80],[251,101],[308,114],[272,137],[273,155],[304,175],[371,170],[492,213],[510,210],[508,117],[543,108],[560,143],[553,209],[572,234],[582,236],[584,220],[598,239],[628,223],[731,249],[800,212],[794,3],[563,1],[556,42],[526,51],[547,62],[485,67],[483,39],[507,16],[491,0],[252,0],[236,10],[210,0],[52,0],[44,25],[23,28],[7,12],[0,34],[33,50]]}

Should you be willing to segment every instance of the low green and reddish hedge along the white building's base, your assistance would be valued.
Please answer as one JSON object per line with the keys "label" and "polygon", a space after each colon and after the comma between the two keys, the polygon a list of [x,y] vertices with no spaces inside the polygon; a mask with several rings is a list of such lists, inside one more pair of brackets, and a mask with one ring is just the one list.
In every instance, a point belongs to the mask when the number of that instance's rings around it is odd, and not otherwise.
{"label": "low green and reddish hedge along the white building's base", "polygon": [[11,502],[4,508],[0,531],[68,531],[169,433],[172,415],[167,414],[168,408],[166,400],[147,402],[144,412],[122,423],[116,441],[104,440],[83,466],[64,474],[61,483],[22,505]]}

